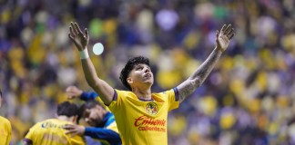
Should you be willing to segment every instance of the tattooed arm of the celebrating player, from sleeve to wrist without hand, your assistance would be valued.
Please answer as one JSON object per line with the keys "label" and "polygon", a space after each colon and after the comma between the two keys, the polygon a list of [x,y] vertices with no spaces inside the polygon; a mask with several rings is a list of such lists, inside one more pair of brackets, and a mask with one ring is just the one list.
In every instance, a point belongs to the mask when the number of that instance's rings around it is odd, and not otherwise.
{"label": "tattooed arm of the celebrating player, from sleeve to wrist without hand", "polygon": [[206,80],[215,64],[218,63],[221,53],[222,52],[215,47],[207,60],[198,67],[198,70],[195,73],[192,73],[188,80],[182,82],[178,86],[178,97],[180,102],[183,102],[189,94],[195,92],[196,89]]}

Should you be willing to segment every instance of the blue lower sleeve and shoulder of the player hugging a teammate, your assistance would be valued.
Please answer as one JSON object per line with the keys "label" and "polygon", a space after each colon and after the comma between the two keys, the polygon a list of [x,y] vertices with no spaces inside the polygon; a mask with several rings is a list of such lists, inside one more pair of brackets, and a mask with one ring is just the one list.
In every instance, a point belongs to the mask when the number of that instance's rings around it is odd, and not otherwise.
{"label": "blue lower sleeve and shoulder of the player hugging a teammate", "polygon": [[102,127],[86,127],[85,135],[98,140],[107,140],[111,145],[122,144],[119,134],[107,129],[107,127],[113,122],[115,122],[114,114],[107,111],[102,122]]}

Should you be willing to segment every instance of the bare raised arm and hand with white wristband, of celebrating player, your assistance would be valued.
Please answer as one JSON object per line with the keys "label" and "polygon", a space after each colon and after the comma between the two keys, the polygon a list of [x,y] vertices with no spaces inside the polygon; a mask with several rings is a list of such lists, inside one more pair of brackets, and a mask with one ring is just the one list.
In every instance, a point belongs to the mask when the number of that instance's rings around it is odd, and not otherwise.
{"label": "bare raised arm and hand with white wristband, of celebrating player", "polygon": [[[71,23],[70,33],[68,37],[75,43],[79,53],[87,52],[87,44],[89,42],[89,35],[87,29],[85,29],[85,34],[82,33],[78,24]],[[91,62],[90,58],[81,59],[84,75],[86,82],[89,86],[100,95],[101,100],[109,105],[112,102],[115,90],[105,81],[101,80],[97,76],[96,69]]]}

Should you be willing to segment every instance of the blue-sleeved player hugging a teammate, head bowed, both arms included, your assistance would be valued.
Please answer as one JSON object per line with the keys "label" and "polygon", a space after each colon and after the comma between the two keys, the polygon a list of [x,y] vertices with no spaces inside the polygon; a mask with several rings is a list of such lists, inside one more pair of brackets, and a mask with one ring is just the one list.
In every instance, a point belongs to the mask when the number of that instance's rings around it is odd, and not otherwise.
{"label": "blue-sleeved player hugging a teammate, head bowed, both arms included", "polygon": [[[66,88],[67,99],[81,99],[86,101],[80,107],[81,118],[86,121],[90,127],[82,125],[66,125],[66,130],[71,134],[85,135],[87,144],[95,144],[96,140],[103,145],[120,145],[120,139],[117,123],[114,114],[110,112],[106,105],[98,97],[96,92],[83,92],[76,86]],[[93,140],[90,140],[91,137]]]}

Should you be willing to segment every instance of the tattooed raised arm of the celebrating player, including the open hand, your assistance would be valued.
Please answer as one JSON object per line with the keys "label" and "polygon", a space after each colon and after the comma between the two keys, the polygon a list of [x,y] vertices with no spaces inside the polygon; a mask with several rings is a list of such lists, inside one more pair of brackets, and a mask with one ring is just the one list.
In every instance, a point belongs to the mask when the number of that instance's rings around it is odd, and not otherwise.
{"label": "tattooed raised arm of the celebrating player, including the open hand", "polygon": [[231,24],[224,24],[221,31],[217,31],[217,46],[214,48],[213,52],[210,53],[207,60],[198,67],[196,72],[189,76],[188,80],[178,85],[178,97],[180,102],[183,102],[188,95],[195,92],[196,89],[205,81],[215,64],[218,63],[221,53],[228,48],[230,39],[233,36],[234,29],[231,27]]}

